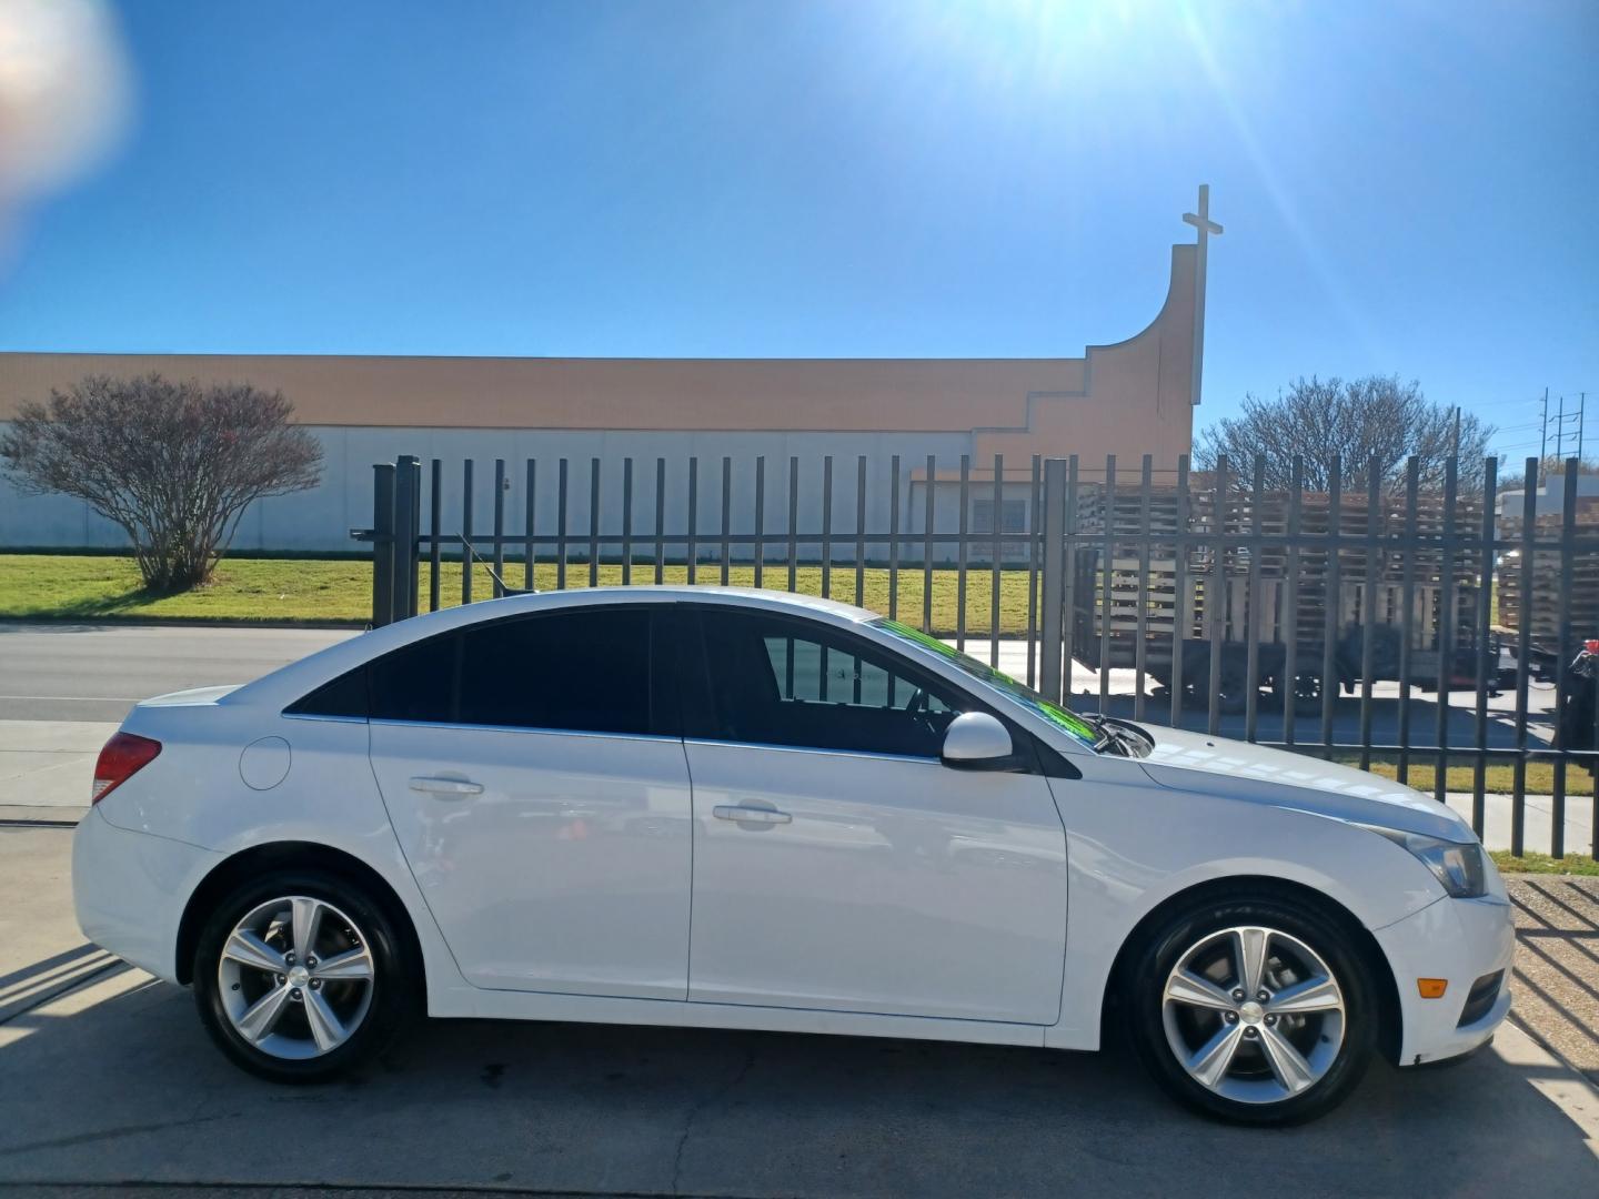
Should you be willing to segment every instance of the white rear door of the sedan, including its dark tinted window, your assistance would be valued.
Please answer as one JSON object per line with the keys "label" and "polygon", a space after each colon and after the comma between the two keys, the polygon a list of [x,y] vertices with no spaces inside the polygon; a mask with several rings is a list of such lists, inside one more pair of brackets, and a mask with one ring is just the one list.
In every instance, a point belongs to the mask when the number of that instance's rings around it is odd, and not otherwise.
{"label": "white rear door of the sedan, including its dark tinted window", "polygon": [[670,604],[556,607],[371,667],[371,761],[477,986],[683,999],[689,775]]}

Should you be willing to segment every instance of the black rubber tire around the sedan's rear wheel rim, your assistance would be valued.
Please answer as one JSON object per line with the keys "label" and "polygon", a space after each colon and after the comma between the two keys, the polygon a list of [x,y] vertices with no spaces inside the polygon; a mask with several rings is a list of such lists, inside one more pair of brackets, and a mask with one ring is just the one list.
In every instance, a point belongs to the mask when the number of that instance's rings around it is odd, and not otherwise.
{"label": "black rubber tire around the sedan's rear wheel rim", "polygon": [[[371,958],[371,980],[360,983],[369,986],[365,1007],[360,1009],[360,1022],[342,1044],[317,1057],[288,1058],[265,1052],[246,1039],[229,1017],[224,982],[219,977],[222,950],[235,926],[249,913],[285,897],[307,897],[328,905],[334,919],[329,921],[325,910],[321,919],[329,927],[321,930],[323,937],[344,937],[350,946],[365,945]],[[349,918],[349,926],[360,930],[358,937],[349,937],[349,930],[339,927],[341,921],[336,918],[341,914]],[[323,870],[281,870],[262,874],[217,903],[200,932],[193,959],[200,1022],[235,1065],[257,1078],[272,1082],[323,1082],[337,1078],[384,1052],[421,1010],[421,962],[413,961],[409,945],[409,938],[400,935],[395,918],[385,906],[366,887],[342,874]],[[257,972],[246,982],[265,986],[270,985],[270,975]],[[339,985],[329,983],[325,994],[333,994],[336,986]],[[237,991],[240,983],[232,983],[227,990]],[[285,1014],[283,1020],[296,1015],[288,1007]],[[304,1026],[305,1015],[299,1014],[299,1020]]]}

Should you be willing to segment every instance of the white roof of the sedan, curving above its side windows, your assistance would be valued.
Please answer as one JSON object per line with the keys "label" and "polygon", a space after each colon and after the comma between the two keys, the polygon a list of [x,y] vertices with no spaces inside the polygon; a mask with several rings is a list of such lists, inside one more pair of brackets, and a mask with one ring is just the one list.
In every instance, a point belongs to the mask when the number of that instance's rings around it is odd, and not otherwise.
{"label": "white roof of the sedan, curving above its side windows", "polygon": [[408,620],[397,620],[382,628],[373,628],[360,636],[341,641],[299,662],[293,662],[254,683],[246,683],[238,691],[229,694],[224,703],[288,703],[299,695],[337,678],[345,670],[352,670],[363,662],[369,662],[379,654],[408,646],[413,641],[445,633],[451,628],[464,628],[481,620],[500,620],[521,612],[558,611],[566,607],[600,607],[627,603],[699,603],[699,604],[732,604],[737,607],[761,607],[766,611],[788,611],[819,617],[831,623],[862,623],[876,620],[878,614],[865,607],[841,604],[836,600],[823,600],[811,595],[795,595],[793,592],[772,592],[756,587],[718,587],[718,585],[635,585],[635,587],[579,587],[561,592],[532,592],[528,595],[508,595],[500,600],[481,600],[456,607],[441,607]]}

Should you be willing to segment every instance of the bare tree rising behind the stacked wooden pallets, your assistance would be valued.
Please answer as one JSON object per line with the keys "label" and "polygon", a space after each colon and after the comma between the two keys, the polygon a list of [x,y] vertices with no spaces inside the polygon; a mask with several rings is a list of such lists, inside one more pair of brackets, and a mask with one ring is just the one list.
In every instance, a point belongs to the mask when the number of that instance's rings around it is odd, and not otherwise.
{"label": "bare tree rising behind the stacked wooden pallets", "polygon": [[[1458,419],[1458,430],[1457,430]],[[1305,488],[1326,491],[1337,459],[1345,489],[1364,489],[1375,472],[1382,486],[1404,483],[1406,459],[1418,459],[1422,486],[1444,484],[1445,462],[1460,456],[1461,492],[1481,491],[1482,459],[1493,425],[1458,414],[1422,395],[1417,382],[1398,377],[1297,379],[1276,400],[1244,396],[1242,412],[1222,417],[1199,435],[1194,465],[1228,467],[1249,480],[1257,454],[1266,457],[1266,486],[1287,489],[1294,457],[1305,464]]]}

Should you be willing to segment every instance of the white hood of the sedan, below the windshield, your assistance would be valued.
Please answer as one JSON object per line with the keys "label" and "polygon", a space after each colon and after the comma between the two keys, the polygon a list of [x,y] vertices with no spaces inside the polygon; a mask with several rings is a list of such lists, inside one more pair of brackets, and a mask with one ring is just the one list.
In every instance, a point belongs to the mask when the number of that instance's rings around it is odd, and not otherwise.
{"label": "white hood of the sedan, below the windshield", "polygon": [[1366,771],[1201,732],[1140,727],[1154,739],[1154,751],[1140,766],[1161,787],[1445,841],[1476,839],[1471,825],[1444,804]]}

